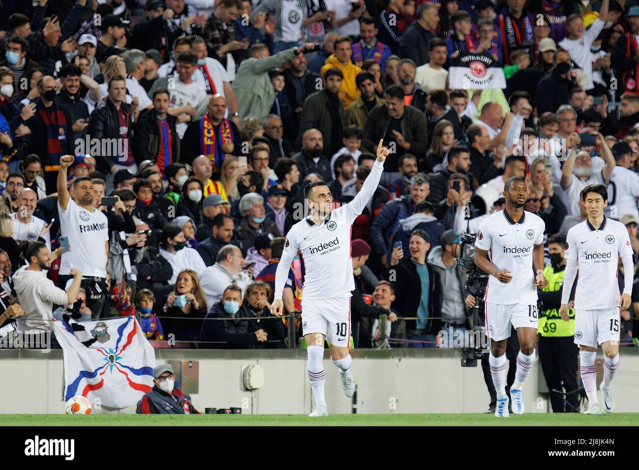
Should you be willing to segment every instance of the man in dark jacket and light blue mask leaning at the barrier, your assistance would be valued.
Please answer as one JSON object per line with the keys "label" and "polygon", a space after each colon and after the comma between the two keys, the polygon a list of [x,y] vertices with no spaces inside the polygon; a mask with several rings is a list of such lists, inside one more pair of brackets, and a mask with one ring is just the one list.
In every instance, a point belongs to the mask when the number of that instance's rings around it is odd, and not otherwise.
{"label": "man in dark jacket and light blue mask leaning at the barrier", "polygon": [[[253,349],[256,343],[266,343],[268,333],[263,329],[249,331],[246,321],[236,320],[243,304],[242,288],[231,284],[224,289],[222,301],[213,305],[202,325],[200,347],[224,349]],[[215,320],[214,318],[225,318]],[[269,320],[277,321],[277,320]]]}

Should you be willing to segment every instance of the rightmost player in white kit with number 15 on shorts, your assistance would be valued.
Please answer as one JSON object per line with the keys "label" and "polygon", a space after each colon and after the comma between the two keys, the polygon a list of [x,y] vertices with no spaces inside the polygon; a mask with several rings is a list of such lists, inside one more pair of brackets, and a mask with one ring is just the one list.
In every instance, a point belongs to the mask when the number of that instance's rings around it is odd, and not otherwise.
{"label": "rightmost player in white kit with number 15 on shorts", "polygon": [[[564,285],[571,286],[579,267],[579,281],[574,294],[574,343],[580,346],[580,368],[589,407],[584,414],[601,414],[597,399],[595,356],[601,345],[604,354],[603,382],[599,386],[606,412],[612,413],[612,381],[619,366],[620,309],[630,306],[633,290],[633,249],[624,224],[604,216],[608,191],[592,184],[581,191],[588,219],[568,231],[566,238],[566,272]],[[619,298],[617,269],[624,263],[624,293]],[[564,289],[559,313],[568,321],[568,297]]]}

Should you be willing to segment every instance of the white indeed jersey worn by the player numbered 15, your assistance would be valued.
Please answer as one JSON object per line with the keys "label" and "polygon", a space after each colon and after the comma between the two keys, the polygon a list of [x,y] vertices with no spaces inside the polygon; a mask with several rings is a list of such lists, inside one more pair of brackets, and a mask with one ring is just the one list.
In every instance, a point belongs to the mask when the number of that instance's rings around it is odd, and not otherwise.
{"label": "white indeed jersey worn by the player numbered 15", "polygon": [[633,255],[626,226],[606,217],[596,229],[586,220],[568,230],[566,244],[565,258],[579,267],[574,308],[618,307],[619,258]]}

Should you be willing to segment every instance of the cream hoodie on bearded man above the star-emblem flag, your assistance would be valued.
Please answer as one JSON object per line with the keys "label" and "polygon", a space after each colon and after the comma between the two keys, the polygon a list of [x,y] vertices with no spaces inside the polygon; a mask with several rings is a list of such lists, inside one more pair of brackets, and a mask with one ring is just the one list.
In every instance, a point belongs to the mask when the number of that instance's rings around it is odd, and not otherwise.
{"label": "cream hoodie on bearded man above the star-emblem flag", "polygon": [[56,287],[45,271],[35,271],[22,266],[13,274],[13,287],[24,317],[17,319],[20,331],[53,331],[53,304],[69,303],[66,292]]}

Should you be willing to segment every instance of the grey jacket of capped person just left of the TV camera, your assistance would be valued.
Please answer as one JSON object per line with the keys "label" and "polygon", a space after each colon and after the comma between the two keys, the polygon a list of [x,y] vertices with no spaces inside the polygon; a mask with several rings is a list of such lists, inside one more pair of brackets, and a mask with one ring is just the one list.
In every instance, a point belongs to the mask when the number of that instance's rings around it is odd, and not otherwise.
{"label": "grey jacket of capped person just left of the TV camera", "polygon": [[466,321],[466,305],[462,296],[461,278],[458,265],[447,266],[443,263],[443,247],[436,246],[427,256],[427,263],[438,274],[442,299],[442,322],[463,324]]}

